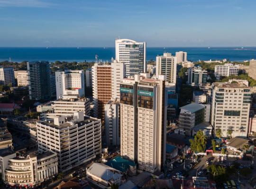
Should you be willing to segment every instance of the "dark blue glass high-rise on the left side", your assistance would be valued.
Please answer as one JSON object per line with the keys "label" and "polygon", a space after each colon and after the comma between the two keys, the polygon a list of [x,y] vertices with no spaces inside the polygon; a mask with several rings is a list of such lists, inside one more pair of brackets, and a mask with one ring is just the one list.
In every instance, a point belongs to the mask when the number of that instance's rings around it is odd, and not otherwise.
{"label": "dark blue glass high-rise on the left side", "polygon": [[50,64],[48,61],[27,62],[30,100],[51,98]]}

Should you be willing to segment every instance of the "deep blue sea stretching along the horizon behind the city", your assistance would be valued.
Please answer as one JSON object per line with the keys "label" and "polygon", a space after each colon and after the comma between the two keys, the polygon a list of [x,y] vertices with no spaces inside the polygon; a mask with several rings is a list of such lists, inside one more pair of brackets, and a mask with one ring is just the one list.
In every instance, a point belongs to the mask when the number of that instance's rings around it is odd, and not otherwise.
{"label": "deep blue sea stretching along the horizon behind the city", "polygon": [[[177,51],[188,53],[188,60],[222,60],[243,61],[256,59],[256,47],[147,47],[146,60],[155,60],[163,52],[175,54]],[[114,47],[0,47],[0,60],[11,61],[94,61],[115,58]]]}

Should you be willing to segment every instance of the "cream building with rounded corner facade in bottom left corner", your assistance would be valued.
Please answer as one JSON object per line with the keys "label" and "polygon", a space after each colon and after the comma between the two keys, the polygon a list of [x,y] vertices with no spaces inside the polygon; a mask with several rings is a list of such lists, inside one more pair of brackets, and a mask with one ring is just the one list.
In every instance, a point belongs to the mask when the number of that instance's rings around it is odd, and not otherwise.
{"label": "cream building with rounded corner facade in bottom left corner", "polygon": [[10,187],[34,187],[58,173],[58,159],[53,152],[31,152],[17,156],[16,152],[0,154],[0,172],[4,183]]}

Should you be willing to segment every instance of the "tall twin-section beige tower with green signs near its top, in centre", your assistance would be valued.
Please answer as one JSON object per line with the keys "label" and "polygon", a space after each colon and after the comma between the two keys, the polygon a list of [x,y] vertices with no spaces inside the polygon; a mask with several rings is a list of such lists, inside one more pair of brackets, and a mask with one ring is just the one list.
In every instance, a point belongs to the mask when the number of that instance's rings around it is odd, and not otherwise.
{"label": "tall twin-section beige tower with green signs near its top, in centre", "polygon": [[121,155],[140,170],[155,172],[165,163],[165,76],[123,79],[120,85]]}

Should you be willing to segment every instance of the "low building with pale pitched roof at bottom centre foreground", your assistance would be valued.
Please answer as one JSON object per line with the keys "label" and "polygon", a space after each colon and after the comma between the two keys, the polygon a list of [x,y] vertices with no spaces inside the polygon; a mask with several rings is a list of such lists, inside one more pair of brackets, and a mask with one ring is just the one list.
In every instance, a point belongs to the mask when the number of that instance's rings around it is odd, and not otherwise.
{"label": "low building with pale pitched roof at bottom centre foreground", "polygon": [[86,169],[87,180],[101,189],[106,189],[113,184],[122,184],[122,172],[102,163],[92,163]]}

